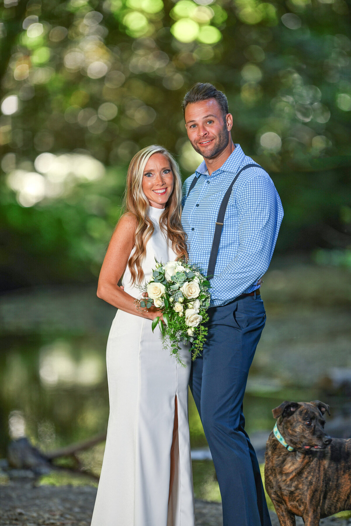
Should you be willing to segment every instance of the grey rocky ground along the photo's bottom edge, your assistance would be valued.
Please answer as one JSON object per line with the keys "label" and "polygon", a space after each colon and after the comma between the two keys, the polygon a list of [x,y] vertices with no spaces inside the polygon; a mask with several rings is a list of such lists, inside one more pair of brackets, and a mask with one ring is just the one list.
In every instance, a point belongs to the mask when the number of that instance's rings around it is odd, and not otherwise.
{"label": "grey rocky ground along the photo's bottom edge", "polygon": [[[0,487],[0,526],[89,526],[96,488],[83,486],[38,486],[33,481],[12,481]],[[222,526],[222,505],[195,501],[197,526]],[[271,513],[272,526],[279,526]],[[303,521],[297,519],[297,526]],[[351,519],[330,517],[321,526],[346,526]]]}

